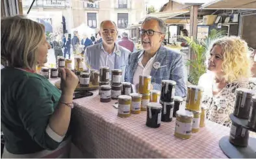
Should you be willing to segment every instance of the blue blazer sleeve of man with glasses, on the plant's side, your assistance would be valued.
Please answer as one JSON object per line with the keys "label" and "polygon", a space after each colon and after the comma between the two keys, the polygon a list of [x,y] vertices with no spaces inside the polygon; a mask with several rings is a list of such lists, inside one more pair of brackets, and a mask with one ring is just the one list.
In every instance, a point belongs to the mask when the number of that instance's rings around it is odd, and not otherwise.
{"label": "blue blazer sleeve of man with glasses, on the plant's side", "polygon": [[171,68],[170,80],[174,80],[176,82],[175,95],[179,97],[186,97],[184,64],[181,54],[176,54]]}

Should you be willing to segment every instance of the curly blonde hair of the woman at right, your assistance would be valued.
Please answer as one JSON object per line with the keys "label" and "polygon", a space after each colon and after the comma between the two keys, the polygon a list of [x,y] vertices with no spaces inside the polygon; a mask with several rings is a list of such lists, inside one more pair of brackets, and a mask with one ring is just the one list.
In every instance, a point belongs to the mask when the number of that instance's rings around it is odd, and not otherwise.
{"label": "curly blonde hair of the woman at right", "polygon": [[227,82],[251,77],[251,59],[248,44],[237,36],[225,36],[212,43],[218,45],[224,53],[222,71]]}

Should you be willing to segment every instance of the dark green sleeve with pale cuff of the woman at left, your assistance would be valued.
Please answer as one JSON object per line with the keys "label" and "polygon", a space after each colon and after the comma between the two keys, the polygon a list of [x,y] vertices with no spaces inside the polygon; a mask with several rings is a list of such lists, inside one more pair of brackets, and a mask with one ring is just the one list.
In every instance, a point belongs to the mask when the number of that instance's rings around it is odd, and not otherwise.
{"label": "dark green sleeve with pale cuff of the woman at left", "polygon": [[57,149],[64,136],[58,136],[49,127],[54,112],[53,101],[58,102],[43,85],[42,80],[29,78],[17,91],[17,110],[23,127],[38,145],[44,149]]}

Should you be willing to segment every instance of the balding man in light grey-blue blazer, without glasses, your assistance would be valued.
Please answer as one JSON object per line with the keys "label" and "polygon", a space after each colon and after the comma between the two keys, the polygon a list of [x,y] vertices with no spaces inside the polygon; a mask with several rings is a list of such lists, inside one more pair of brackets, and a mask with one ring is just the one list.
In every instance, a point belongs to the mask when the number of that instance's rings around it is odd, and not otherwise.
{"label": "balding man in light grey-blue blazer, without glasses", "polygon": [[84,52],[86,63],[90,65],[91,69],[99,69],[102,66],[107,66],[110,69],[122,69],[124,77],[125,66],[131,52],[116,43],[118,36],[116,23],[109,20],[102,21],[99,35],[102,38],[101,43],[86,47]]}

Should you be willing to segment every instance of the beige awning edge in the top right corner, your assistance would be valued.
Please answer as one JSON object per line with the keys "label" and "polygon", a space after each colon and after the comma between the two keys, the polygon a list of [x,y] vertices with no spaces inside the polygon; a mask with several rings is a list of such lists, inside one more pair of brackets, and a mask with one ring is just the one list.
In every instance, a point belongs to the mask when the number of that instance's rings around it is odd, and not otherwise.
{"label": "beige awning edge in the top right corner", "polygon": [[256,0],[215,0],[201,5],[203,9],[256,10]]}

